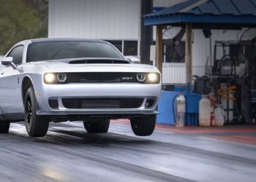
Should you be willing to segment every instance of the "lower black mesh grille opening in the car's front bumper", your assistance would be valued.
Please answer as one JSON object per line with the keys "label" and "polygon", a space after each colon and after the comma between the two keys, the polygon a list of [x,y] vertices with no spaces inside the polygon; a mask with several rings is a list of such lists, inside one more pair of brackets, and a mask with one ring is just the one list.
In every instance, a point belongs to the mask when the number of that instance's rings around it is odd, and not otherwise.
{"label": "lower black mesh grille opening in the car's front bumper", "polygon": [[63,98],[65,108],[140,108],[143,98]]}

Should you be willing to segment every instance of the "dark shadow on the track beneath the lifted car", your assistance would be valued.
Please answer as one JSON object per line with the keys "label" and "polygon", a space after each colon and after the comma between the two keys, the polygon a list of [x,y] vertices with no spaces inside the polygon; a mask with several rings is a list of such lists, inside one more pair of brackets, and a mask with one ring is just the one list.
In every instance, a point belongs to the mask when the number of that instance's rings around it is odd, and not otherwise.
{"label": "dark shadow on the track beneath the lifted car", "polygon": [[[63,146],[79,146],[79,145],[100,145],[100,146],[110,146],[110,144],[118,144],[124,146],[140,146],[154,144],[155,141],[148,140],[147,138],[133,137],[130,135],[122,135],[115,132],[107,133],[89,133],[85,130],[80,130],[79,128],[72,127],[59,129],[54,127],[49,127],[47,135],[41,138],[32,138],[24,130],[25,127],[20,123],[20,128],[18,130],[11,130],[9,134],[1,134],[1,138],[8,140],[8,137],[12,135],[12,140],[20,141],[23,143],[36,142],[44,144],[53,145],[63,145]],[[22,139],[20,139],[22,138]]]}

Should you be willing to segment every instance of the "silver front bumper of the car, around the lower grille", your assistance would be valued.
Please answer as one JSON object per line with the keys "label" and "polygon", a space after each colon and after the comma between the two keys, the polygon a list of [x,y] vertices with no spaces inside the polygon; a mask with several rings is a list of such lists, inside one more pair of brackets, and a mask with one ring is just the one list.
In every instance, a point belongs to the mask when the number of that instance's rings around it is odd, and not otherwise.
{"label": "silver front bumper of the car, around the lower grille", "polygon": [[[92,84],[44,84],[34,88],[37,98],[37,115],[132,115],[157,114],[161,84],[134,83],[92,83]],[[140,108],[65,108],[62,98],[143,98]],[[154,99],[150,108],[145,107],[147,99]],[[58,100],[58,108],[50,108],[48,100]]]}

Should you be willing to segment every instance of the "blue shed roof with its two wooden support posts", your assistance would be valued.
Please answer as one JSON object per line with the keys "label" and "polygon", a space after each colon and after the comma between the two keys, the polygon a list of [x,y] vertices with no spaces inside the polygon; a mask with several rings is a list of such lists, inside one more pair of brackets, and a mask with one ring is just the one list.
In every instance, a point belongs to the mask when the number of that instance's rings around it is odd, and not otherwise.
{"label": "blue shed roof with its two wooden support posts", "polygon": [[186,28],[186,82],[190,83],[192,82],[192,29],[236,30],[256,27],[256,0],[184,1],[159,12],[144,15],[144,25],[157,25],[157,67],[160,71],[162,71],[163,26]]}

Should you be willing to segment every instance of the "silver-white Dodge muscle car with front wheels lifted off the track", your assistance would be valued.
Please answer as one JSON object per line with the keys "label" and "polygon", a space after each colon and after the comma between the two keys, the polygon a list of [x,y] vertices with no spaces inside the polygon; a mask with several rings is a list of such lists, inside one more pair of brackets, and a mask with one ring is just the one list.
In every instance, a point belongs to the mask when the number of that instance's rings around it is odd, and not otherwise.
{"label": "silver-white Dodge muscle car with front wheels lifted off the track", "polygon": [[159,71],[129,63],[107,41],[21,41],[0,65],[0,132],[20,120],[33,137],[46,135],[49,122],[83,121],[87,132],[108,132],[110,119],[121,118],[135,135],[154,131]]}

